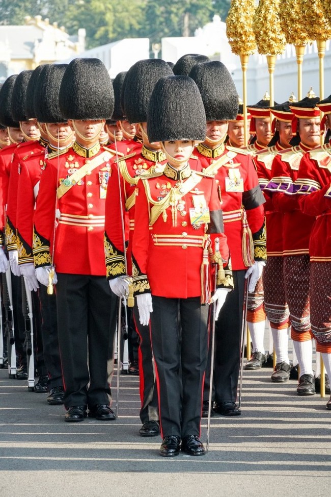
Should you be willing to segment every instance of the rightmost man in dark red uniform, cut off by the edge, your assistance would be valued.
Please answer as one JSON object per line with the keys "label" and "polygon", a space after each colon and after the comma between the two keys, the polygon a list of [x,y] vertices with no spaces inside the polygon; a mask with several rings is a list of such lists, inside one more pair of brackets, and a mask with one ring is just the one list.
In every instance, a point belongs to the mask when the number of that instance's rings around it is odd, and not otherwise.
{"label": "rightmost man in dark red uniform, cut off by the edge", "polygon": [[[331,128],[331,95],[317,104]],[[331,144],[314,148],[300,162],[295,182],[299,206],[316,217],[309,242],[310,319],[312,333],[326,370],[325,391],[331,378]],[[316,371],[316,376],[318,371]],[[326,404],[331,410],[331,398]]]}

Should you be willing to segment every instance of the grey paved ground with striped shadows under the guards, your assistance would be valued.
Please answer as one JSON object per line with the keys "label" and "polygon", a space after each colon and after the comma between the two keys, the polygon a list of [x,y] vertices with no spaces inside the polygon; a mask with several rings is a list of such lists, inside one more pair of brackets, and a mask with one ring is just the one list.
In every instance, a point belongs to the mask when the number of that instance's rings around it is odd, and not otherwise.
{"label": "grey paved ground with striped shadows under the guards", "polygon": [[0,496],[329,495],[327,397],[299,397],[295,381],[272,384],[270,374],[244,371],[242,415],[212,418],[206,456],[162,458],[160,438],[138,434],[138,377],[121,376],[116,421],[69,424],[63,406],[1,369]]}

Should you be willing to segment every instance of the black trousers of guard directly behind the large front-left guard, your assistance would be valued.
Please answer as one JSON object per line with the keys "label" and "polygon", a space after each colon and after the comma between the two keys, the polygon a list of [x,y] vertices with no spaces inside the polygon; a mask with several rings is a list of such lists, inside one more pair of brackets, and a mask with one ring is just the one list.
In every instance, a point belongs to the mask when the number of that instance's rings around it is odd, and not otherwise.
{"label": "black trousers of guard directly behind the large front-left guard", "polygon": [[57,297],[55,292],[48,295],[47,287],[40,285],[38,290],[41,310],[41,336],[43,355],[48,375],[47,388],[63,386],[59,350]]}

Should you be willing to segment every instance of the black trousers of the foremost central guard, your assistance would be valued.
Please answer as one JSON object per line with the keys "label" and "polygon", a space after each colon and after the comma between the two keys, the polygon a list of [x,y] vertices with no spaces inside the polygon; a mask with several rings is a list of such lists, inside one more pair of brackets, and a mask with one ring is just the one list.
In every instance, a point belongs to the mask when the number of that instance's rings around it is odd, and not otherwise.
{"label": "black trousers of the foremost central guard", "polygon": [[162,437],[199,436],[208,305],[201,305],[200,297],[167,299],[152,295],[152,302],[151,340]]}

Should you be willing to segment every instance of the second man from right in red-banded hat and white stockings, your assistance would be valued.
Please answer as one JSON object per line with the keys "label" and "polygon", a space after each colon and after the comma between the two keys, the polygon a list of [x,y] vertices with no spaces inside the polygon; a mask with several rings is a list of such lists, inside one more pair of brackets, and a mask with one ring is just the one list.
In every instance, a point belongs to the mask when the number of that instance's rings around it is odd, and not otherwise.
{"label": "second man from right in red-banded hat and white stockings", "polygon": [[299,210],[294,182],[304,154],[320,143],[319,98],[307,96],[292,103],[298,118],[300,143],[279,152],[273,159],[271,180],[265,189],[272,195],[275,210],[283,215],[283,277],[290,310],[291,338],[300,367],[298,395],[314,395],[312,332],[309,310],[309,239],[314,218]]}

